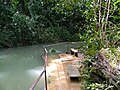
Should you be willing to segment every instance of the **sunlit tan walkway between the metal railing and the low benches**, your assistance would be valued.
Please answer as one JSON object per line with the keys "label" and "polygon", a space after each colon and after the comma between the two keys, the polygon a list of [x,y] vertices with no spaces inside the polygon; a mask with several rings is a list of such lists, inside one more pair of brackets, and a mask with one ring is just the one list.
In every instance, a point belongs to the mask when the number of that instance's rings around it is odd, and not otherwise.
{"label": "sunlit tan walkway between the metal railing and the low benches", "polygon": [[[48,90],[80,90],[80,81],[71,81],[66,71],[66,66],[72,64],[73,59],[81,60],[83,57],[76,58],[65,54],[61,57],[51,56],[48,58]],[[63,60],[67,61],[63,62]]]}

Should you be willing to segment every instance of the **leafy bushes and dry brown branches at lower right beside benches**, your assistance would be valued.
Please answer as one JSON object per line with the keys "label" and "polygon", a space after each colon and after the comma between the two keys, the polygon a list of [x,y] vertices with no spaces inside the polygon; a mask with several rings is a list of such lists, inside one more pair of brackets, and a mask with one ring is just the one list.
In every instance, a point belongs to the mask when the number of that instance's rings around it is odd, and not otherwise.
{"label": "leafy bushes and dry brown branches at lower right beside benches", "polygon": [[101,49],[96,58],[87,58],[83,63],[84,90],[119,90],[119,55],[119,48]]}

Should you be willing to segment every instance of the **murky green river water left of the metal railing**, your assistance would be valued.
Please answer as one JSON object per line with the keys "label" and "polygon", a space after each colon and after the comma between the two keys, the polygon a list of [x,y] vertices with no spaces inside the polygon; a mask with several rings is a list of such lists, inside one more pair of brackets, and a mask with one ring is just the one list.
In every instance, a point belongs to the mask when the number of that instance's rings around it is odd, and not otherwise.
{"label": "murky green river water left of the metal railing", "polygon": [[[0,90],[29,90],[43,70],[42,45],[0,50]],[[44,90],[44,78],[35,90]]]}

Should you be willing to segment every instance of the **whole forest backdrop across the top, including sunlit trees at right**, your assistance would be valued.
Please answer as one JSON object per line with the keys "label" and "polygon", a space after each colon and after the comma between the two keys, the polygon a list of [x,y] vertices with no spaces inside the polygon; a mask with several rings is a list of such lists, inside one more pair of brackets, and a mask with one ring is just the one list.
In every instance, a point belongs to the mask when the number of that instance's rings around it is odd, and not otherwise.
{"label": "whole forest backdrop across the top, including sunlit trees at right", "polygon": [[120,1],[0,0],[0,47],[63,41],[120,45]]}

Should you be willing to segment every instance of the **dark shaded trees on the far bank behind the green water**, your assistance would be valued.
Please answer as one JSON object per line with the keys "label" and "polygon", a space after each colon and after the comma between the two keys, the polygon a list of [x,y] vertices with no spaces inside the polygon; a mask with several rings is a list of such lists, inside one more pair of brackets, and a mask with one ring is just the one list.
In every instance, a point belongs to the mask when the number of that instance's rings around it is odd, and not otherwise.
{"label": "dark shaded trees on the far bank behind the green water", "polygon": [[59,5],[62,5],[62,1],[0,1],[0,46],[79,40],[78,24],[85,18],[79,16],[83,12],[76,10],[82,5],[73,4],[75,10],[70,5],[62,9]]}

